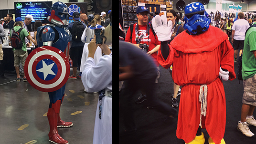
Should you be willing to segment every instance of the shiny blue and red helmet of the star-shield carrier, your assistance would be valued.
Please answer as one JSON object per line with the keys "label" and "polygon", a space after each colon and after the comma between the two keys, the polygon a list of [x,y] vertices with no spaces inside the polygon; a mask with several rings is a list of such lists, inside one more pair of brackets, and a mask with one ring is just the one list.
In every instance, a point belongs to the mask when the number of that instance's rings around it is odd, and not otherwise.
{"label": "shiny blue and red helmet of the star-shield carrier", "polygon": [[57,1],[52,5],[51,16],[48,20],[56,25],[68,25],[68,7],[64,2]]}

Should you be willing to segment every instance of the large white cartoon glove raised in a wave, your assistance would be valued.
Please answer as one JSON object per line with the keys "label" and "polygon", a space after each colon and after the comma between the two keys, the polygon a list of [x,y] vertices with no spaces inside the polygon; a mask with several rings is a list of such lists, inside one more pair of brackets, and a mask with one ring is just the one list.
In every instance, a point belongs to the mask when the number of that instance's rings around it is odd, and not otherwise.
{"label": "large white cartoon glove raised in a wave", "polygon": [[171,39],[172,21],[169,20],[167,23],[167,18],[165,15],[161,15],[161,17],[156,15],[152,19],[152,26],[159,41],[167,41]]}

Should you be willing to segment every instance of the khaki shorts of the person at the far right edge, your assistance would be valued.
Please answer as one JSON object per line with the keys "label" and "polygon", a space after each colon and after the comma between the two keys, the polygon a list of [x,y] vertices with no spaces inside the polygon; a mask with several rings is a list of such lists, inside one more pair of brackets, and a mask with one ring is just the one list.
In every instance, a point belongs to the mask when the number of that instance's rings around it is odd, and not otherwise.
{"label": "khaki shorts of the person at the far right edge", "polygon": [[244,80],[243,104],[256,106],[256,74]]}

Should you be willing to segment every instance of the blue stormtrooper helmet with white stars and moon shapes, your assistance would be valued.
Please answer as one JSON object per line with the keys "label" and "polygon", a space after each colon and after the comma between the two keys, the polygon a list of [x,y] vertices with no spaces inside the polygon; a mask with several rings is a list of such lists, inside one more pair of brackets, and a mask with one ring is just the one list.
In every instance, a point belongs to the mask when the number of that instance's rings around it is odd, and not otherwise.
{"label": "blue stormtrooper helmet with white stars and moon shapes", "polygon": [[211,19],[202,3],[192,2],[185,7],[184,12],[184,29],[187,29],[191,34],[200,34],[209,29]]}

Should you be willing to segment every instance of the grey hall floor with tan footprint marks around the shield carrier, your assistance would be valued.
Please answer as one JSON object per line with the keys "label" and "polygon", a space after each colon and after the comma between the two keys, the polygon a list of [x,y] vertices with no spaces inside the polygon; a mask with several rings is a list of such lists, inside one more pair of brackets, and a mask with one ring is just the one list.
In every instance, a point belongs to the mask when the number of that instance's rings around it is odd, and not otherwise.
{"label": "grey hall floor with tan footprint marks around the shield carrier", "polygon": [[[68,79],[65,93],[60,117],[74,125],[58,128],[59,134],[69,144],[92,144],[97,93],[84,92],[81,79]],[[52,144],[46,116],[49,102],[48,93],[17,82],[16,73],[0,77],[0,144]]]}

